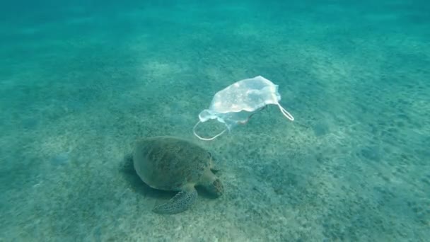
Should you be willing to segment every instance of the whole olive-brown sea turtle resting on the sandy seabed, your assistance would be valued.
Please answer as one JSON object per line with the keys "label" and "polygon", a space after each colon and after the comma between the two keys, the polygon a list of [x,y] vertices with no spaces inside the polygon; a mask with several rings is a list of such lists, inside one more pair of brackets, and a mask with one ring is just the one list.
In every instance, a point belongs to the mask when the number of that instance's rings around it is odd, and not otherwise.
{"label": "whole olive-brown sea turtle resting on the sandy seabed", "polygon": [[179,191],[173,198],[153,208],[159,214],[177,214],[190,208],[197,199],[194,186],[201,185],[216,197],[223,185],[211,153],[185,139],[158,136],[139,139],[133,152],[133,164],[141,180],[151,188]]}

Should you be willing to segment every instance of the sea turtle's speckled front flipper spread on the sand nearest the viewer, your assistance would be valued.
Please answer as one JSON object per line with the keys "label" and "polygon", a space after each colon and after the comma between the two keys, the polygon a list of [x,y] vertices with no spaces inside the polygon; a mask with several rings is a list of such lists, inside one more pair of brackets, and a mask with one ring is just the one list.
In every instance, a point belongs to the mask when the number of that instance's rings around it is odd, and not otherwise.
{"label": "sea turtle's speckled front flipper spread on the sand nearest the viewer", "polygon": [[178,214],[189,209],[196,199],[197,190],[190,187],[178,192],[168,202],[157,205],[152,211],[157,214]]}

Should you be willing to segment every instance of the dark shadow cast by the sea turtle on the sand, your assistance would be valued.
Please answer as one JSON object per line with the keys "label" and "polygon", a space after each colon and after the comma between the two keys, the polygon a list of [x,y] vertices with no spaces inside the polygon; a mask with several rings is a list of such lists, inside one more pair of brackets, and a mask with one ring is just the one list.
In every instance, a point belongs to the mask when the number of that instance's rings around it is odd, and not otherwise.
{"label": "dark shadow cast by the sea turtle on the sand", "polygon": [[[175,191],[158,190],[146,185],[146,183],[144,183],[141,178],[139,178],[136,170],[134,170],[132,154],[124,155],[120,164],[120,173],[122,174],[124,180],[127,181],[129,187],[132,188],[134,192],[139,193],[139,195],[143,197],[151,197],[151,199],[153,198],[156,200],[169,200],[177,193]],[[207,192],[207,190],[200,188],[199,186],[196,187],[196,190],[199,193],[199,196],[205,198],[214,197],[214,195],[211,195],[209,192]]]}

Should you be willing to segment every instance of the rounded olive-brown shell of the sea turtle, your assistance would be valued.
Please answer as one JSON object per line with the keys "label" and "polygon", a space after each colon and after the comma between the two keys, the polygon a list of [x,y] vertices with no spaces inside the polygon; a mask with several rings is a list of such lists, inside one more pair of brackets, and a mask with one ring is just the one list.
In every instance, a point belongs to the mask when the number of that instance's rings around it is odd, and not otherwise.
{"label": "rounded olive-brown shell of the sea turtle", "polygon": [[199,183],[211,166],[211,154],[185,139],[151,137],[136,142],[133,163],[141,180],[151,188],[181,190],[187,183]]}

